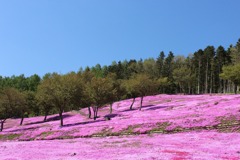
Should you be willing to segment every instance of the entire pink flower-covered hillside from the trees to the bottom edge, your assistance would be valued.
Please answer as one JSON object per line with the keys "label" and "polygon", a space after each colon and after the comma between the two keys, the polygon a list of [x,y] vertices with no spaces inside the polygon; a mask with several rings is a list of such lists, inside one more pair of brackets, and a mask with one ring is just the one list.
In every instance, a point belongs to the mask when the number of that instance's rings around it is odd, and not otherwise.
{"label": "entire pink flower-covered hillside from the trees to the bottom edge", "polygon": [[[156,95],[116,102],[88,119],[87,109],[8,119],[0,159],[240,159],[240,95]],[[111,120],[105,120],[108,115]]]}

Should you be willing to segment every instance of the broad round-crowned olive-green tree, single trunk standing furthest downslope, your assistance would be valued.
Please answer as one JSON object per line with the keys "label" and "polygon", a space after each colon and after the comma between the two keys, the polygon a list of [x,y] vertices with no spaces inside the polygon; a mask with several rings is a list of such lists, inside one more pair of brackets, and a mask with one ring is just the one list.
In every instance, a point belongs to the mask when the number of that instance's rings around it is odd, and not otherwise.
{"label": "broad round-crowned olive-green tree, single trunk standing furthest downslope", "polygon": [[75,73],[59,75],[53,73],[43,79],[39,88],[48,94],[51,105],[59,110],[60,126],[63,126],[63,112],[71,107],[77,108],[81,104],[83,95],[81,79]]}

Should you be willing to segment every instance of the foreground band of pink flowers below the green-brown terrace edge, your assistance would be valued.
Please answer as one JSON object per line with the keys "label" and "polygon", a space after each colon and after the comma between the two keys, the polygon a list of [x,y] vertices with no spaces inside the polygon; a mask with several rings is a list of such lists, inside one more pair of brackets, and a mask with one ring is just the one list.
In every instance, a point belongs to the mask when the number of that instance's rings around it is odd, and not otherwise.
{"label": "foreground band of pink flowers below the green-brown terrace edge", "polygon": [[190,132],[138,136],[2,142],[1,160],[240,159],[240,135]]}

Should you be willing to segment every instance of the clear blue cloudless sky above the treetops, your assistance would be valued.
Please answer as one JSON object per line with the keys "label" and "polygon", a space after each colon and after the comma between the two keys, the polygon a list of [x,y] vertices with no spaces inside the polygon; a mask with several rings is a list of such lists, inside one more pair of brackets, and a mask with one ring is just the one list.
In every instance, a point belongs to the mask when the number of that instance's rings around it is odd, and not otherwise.
{"label": "clear blue cloudless sky above the treetops", "polygon": [[0,0],[0,75],[185,55],[240,38],[240,0]]}

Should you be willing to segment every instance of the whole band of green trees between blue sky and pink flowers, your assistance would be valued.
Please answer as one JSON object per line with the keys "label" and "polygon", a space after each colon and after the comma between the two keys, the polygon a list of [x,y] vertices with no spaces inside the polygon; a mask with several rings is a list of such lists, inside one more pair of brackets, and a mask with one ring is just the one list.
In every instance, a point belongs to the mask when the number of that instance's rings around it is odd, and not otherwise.
{"label": "whole band of green trees between blue sky and pink flowers", "polygon": [[[89,118],[98,117],[98,109],[115,101],[159,93],[207,94],[237,93],[240,84],[240,40],[228,49],[207,46],[187,57],[172,52],[145,60],[113,62],[109,66],[97,64],[60,75],[0,77],[1,128],[8,118],[59,113],[88,108]],[[93,112],[93,113],[92,113]],[[92,115],[93,114],[93,115]]]}

